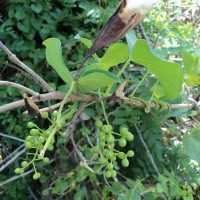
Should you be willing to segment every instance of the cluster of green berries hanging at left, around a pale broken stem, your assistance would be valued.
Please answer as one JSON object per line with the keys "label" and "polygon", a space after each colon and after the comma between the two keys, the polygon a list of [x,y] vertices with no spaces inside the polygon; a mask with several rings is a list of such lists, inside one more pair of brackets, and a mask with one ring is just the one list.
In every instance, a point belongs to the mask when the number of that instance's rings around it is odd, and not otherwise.
{"label": "cluster of green berries hanging at left, around a pale broken stem", "polygon": [[[53,112],[54,119],[56,119],[57,115],[58,115],[58,111],[54,111]],[[43,119],[49,119],[48,112],[41,113],[41,117]],[[54,125],[54,126],[56,126],[57,131],[60,133],[61,136],[65,136],[65,132],[59,131],[59,129],[62,128],[63,125],[64,125],[64,122],[62,122],[62,121],[59,122],[59,123],[56,123]],[[27,127],[30,129],[30,135],[28,135],[26,137],[26,139],[25,139],[25,147],[26,147],[27,150],[35,149],[36,153],[32,153],[33,159],[30,160],[30,162],[23,161],[21,163],[21,167],[18,167],[18,168],[15,169],[15,173],[16,174],[24,173],[24,171],[30,165],[34,165],[35,161],[41,160],[44,163],[48,163],[49,162],[49,158],[48,157],[43,157],[43,156],[41,157],[40,154],[38,154],[38,152],[40,152],[43,149],[43,147],[45,145],[45,142],[50,137],[50,135],[52,133],[52,129],[54,128],[54,126],[52,125],[47,130],[42,130],[36,124],[34,124],[33,122],[28,122]],[[52,137],[50,143],[48,144],[47,150],[52,151],[54,149],[54,143],[55,143],[55,138]],[[36,180],[36,179],[40,178],[40,176],[41,176],[41,174],[36,171],[33,174],[33,179]]]}

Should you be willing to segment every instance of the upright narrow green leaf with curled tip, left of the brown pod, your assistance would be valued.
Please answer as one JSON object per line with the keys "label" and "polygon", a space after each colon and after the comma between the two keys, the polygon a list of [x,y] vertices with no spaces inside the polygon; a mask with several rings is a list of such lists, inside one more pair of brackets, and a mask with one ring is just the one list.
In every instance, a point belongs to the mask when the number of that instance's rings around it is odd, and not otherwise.
{"label": "upright narrow green leaf with curled tip, left of the brown pod", "polygon": [[62,80],[70,85],[72,77],[63,61],[60,40],[57,38],[49,38],[42,44],[46,46],[47,62],[56,70]]}

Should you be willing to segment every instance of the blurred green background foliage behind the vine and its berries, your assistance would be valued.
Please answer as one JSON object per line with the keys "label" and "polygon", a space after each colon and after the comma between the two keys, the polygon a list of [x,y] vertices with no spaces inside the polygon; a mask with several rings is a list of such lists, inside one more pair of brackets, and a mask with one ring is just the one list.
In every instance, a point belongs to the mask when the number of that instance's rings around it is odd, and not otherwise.
{"label": "blurred green background foliage behind the vine and its berries", "polygon": [[[7,2],[6,15],[1,15],[1,40],[23,62],[40,74],[57,90],[64,88],[63,81],[57,76],[45,60],[42,42],[49,37],[57,37],[62,41],[62,50],[66,65],[75,70],[85,56],[86,47],[74,36],[89,39],[95,38],[99,29],[111,16],[117,6],[117,0],[104,1],[23,1]],[[144,20],[143,25],[155,52],[161,58],[176,61],[186,65],[188,59],[195,60],[200,56],[200,26],[199,5],[195,1],[167,1],[158,4]],[[135,29],[138,38],[142,38],[141,30]],[[124,39],[122,39],[125,42]],[[185,52],[188,53],[185,53]],[[102,52],[99,54],[101,55]],[[183,60],[182,60],[183,57]],[[185,60],[184,60],[185,59]],[[89,60],[88,62],[91,62]],[[184,69],[189,75],[194,73]],[[132,85],[137,85],[144,76],[146,69],[142,68],[131,76]],[[197,72],[199,74],[199,72]],[[16,66],[7,62],[0,52],[0,75],[2,80],[14,81],[38,92],[44,92],[31,78]],[[137,91],[137,96],[149,99],[150,86],[156,82],[149,76]],[[199,86],[194,78],[189,80],[192,95],[198,99]],[[1,105],[21,99],[21,93],[13,88],[0,87]],[[176,103],[186,100],[186,95]],[[43,106],[43,105],[42,105]],[[28,135],[26,124],[35,118],[22,116],[24,109],[7,111],[0,115],[0,131],[24,139]],[[129,168],[119,168],[119,182],[105,181],[99,173],[92,174],[78,166],[77,159],[70,157],[71,146],[57,138],[57,149],[49,154],[56,159],[49,165],[38,166],[42,171],[39,181],[33,181],[31,176],[13,181],[0,188],[3,199],[199,199],[200,174],[197,162],[190,160],[182,145],[184,133],[191,132],[195,121],[190,117],[191,110],[171,113],[159,110],[145,113],[144,109],[132,108],[128,105],[109,105],[106,107],[109,120],[115,129],[121,125],[129,127],[135,140],[127,147],[133,149],[135,156],[130,161]],[[94,142],[94,120],[103,116],[99,104],[85,110],[87,120],[83,120],[74,135],[79,148],[90,158],[89,141]],[[171,117],[171,118],[170,118]],[[187,121],[189,124],[187,124]],[[48,122],[40,120],[41,127],[47,127]],[[146,149],[141,145],[134,123],[139,123],[142,136],[158,167],[160,176],[151,165]],[[1,137],[2,158],[14,151],[20,142]],[[187,145],[185,143],[185,145]],[[191,145],[191,144],[189,144]],[[23,155],[13,165],[6,168],[0,175],[0,180],[14,176],[14,169],[22,161]],[[96,166],[96,170],[99,166]]]}

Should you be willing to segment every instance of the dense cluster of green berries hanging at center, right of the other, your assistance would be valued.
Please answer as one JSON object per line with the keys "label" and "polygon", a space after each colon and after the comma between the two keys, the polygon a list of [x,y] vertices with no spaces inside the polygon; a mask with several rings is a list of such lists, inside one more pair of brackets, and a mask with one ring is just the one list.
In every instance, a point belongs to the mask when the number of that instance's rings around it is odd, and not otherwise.
{"label": "dense cluster of green berries hanging at center, right of the other", "polygon": [[99,145],[93,147],[92,151],[93,153],[100,155],[98,162],[101,165],[106,166],[105,176],[107,178],[114,178],[116,177],[117,172],[114,170],[113,162],[119,158],[121,159],[122,166],[128,167],[128,157],[134,156],[134,152],[132,150],[124,153],[116,150],[114,146],[117,142],[120,147],[125,147],[127,142],[134,139],[134,135],[130,133],[126,127],[121,128],[120,133],[116,133],[112,130],[113,128],[111,125],[103,125],[101,121],[96,121],[95,126],[100,129],[98,133]]}

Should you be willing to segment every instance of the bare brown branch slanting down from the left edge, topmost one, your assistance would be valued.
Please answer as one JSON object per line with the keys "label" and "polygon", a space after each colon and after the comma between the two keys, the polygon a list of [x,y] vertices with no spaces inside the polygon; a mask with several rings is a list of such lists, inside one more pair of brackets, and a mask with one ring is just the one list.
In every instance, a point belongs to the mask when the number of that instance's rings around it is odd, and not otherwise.
{"label": "bare brown branch slanting down from the left edge, topmost one", "polygon": [[28,66],[26,66],[23,62],[21,62],[15,54],[13,54],[1,41],[0,41],[0,49],[2,49],[7,55],[11,62],[15,63],[22,69],[24,69],[28,74],[32,76],[34,80],[36,80],[43,88],[45,88],[48,92],[54,91],[54,89],[38,74],[36,74],[33,70],[31,70]]}

